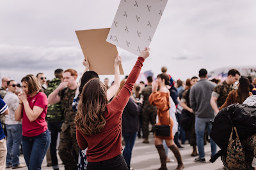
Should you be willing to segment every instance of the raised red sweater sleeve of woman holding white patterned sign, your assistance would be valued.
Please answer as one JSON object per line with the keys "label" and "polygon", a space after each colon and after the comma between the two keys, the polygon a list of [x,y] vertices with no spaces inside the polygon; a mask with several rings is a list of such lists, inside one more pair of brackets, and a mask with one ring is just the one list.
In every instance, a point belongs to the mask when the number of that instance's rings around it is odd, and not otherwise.
{"label": "raised red sweater sleeve of woman holding white patterned sign", "polygon": [[144,60],[145,59],[143,59],[143,57],[138,57],[136,64],[132,68],[132,71],[129,74],[124,86],[120,90],[118,96],[116,96],[113,101],[109,103],[112,108],[115,108],[115,110],[121,111],[121,113],[124,110],[131,96],[134,83],[140,75],[141,67],[143,66]]}

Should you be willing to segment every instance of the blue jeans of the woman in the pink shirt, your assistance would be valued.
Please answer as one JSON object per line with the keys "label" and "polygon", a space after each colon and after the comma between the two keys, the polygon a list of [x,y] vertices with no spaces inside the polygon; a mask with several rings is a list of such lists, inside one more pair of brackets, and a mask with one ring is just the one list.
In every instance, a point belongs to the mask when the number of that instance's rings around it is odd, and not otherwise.
{"label": "blue jeans of the woman in the pink shirt", "polygon": [[41,169],[50,143],[51,136],[48,129],[38,136],[22,136],[23,155],[29,170]]}

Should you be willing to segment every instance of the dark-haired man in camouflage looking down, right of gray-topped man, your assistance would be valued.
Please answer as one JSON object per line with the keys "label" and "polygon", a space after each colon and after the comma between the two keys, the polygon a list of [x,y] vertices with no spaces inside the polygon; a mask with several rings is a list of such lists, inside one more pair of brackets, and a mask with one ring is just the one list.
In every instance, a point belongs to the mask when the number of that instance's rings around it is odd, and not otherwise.
{"label": "dark-haired man in camouflage looking down, right of gray-topped man", "polygon": [[[233,90],[233,85],[239,80],[240,73],[236,69],[228,71],[228,77],[225,81],[217,85],[212,92],[211,106],[215,113],[219,113],[219,108],[225,103],[228,93]],[[216,103],[217,102],[217,103]]]}

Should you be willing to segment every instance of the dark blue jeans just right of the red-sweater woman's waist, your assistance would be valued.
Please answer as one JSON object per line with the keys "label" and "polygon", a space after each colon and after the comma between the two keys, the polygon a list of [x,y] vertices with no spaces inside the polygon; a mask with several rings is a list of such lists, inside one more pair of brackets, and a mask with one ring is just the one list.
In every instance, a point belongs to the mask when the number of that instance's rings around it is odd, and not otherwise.
{"label": "dark blue jeans just right of the red-sweater woman's waist", "polygon": [[134,146],[136,140],[137,133],[123,133],[124,141],[125,141],[125,148],[124,148],[124,159],[127,163],[128,169],[130,169],[131,164],[131,157],[132,157],[132,148]]}

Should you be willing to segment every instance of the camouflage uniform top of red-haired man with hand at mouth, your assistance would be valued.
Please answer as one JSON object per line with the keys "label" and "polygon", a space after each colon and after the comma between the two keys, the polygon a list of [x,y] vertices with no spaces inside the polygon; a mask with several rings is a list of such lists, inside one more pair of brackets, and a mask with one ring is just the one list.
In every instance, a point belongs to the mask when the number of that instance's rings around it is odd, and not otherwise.
{"label": "camouflage uniform top of red-haired man with hand at mouth", "polygon": [[61,102],[64,108],[64,123],[61,126],[61,130],[64,132],[69,126],[75,127],[74,119],[76,117],[76,111],[72,109],[73,99],[76,95],[76,89],[70,90],[65,88],[58,94],[61,97]]}

